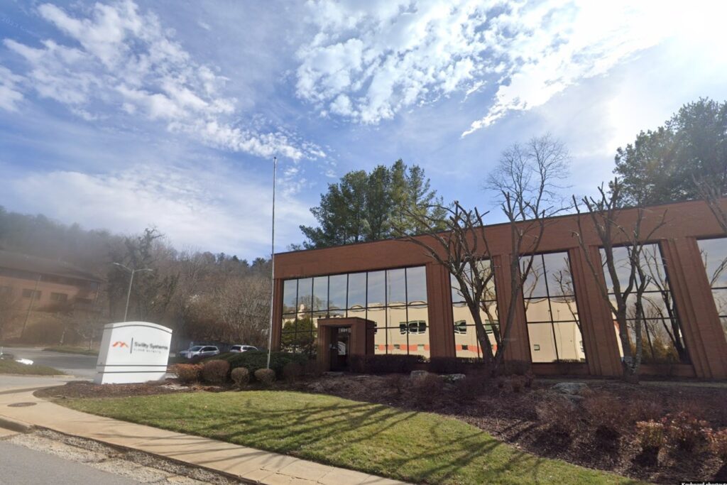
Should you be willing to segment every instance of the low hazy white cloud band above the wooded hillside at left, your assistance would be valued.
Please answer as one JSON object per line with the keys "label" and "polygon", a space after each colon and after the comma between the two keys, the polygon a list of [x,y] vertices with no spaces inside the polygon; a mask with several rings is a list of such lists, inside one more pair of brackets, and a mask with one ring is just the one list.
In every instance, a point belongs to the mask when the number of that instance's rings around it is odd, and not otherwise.
{"label": "low hazy white cloud band above the wooded hillside at left", "polygon": [[[239,175],[139,165],[98,175],[29,173],[9,181],[7,190],[28,211],[87,228],[135,233],[154,225],[177,247],[251,257],[268,252],[270,244],[270,188],[255,182]],[[308,209],[284,191],[278,195],[278,241],[298,239],[297,225],[311,218]]]}

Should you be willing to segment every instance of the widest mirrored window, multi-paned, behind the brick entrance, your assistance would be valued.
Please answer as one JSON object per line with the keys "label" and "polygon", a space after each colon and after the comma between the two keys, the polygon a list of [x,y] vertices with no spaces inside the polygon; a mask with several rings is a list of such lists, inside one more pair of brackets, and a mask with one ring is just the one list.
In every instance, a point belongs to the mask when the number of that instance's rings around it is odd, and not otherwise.
{"label": "widest mirrored window, multi-paned, behind the brick entrance", "polygon": [[376,324],[376,353],[429,357],[425,267],[287,280],[281,348],[315,353],[318,318],[358,316]]}

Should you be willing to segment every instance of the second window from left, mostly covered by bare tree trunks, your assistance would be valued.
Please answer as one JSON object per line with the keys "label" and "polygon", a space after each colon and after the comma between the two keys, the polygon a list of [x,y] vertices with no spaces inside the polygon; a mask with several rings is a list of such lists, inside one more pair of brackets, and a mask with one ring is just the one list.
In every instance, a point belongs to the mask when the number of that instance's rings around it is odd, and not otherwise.
{"label": "second window from left, mostly covered by bare tree trunks", "polygon": [[[497,335],[499,332],[499,317],[497,313],[497,294],[495,280],[489,260],[480,262],[481,277],[487,281],[482,301],[480,302],[480,318],[484,331],[489,338],[492,349],[497,351]],[[467,278],[472,280],[472,278]],[[465,302],[465,297],[459,288],[457,278],[449,277],[452,297],[452,318],[454,320],[454,351],[461,358],[482,358],[483,349],[478,339],[475,319]]]}

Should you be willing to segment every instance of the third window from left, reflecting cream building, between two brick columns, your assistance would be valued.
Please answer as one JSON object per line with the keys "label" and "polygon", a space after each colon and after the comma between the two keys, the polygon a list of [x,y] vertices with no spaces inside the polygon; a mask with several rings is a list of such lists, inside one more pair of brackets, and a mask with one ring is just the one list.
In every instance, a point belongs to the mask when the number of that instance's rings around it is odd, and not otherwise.
{"label": "third window from left, reflecting cream building, between two brick columns", "polygon": [[[523,258],[526,265],[529,258]],[[567,252],[536,254],[523,284],[533,362],[585,362]]]}

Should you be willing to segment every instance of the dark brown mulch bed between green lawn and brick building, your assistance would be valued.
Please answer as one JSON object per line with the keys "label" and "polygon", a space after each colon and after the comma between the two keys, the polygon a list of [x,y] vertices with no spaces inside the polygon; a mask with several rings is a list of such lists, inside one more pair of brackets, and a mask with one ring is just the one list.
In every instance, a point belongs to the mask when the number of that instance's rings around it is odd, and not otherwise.
{"label": "dark brown mulch bed between green lawn and brick building", "polygon": [[[478,377],[467,377],[467,380]],[[299,390],[332,396],[386,404],[399,409],[436,412],[475,425],[496,438],[542,457],[558,458],[588,468],[608,470],[655,483],[675,483],[684,480],[727,481],[727,465],[706,451],[676,454],[662,449],[658,465],[641,454],[632,433],[633,424],[621,436],[606,435],[595,428],[581,401],[572,406],[569,433],[553,428],[542,409],[563,402],[563,396],[551,388],[556,380],[534,380],[531,388],[519,392],[496,380],[478,386],[477,393],[462,393],[462,386],[444,385],[435,389],[414,388],[406,375],[374,376],[343,374],[336,377],[301,378],[292,382],[276,382],[279,390]],[[648,407],[660,417],[670,412],[686,410],[712,428],[727,427],[727,385],[702,387],[669,382],[664,385],[629,385],[613,380],[583,380],[591,396],[611,396],[632,408]],[[502,382],[500,382],[502,384]],[[252,385],[250,388],[257,388]],[[94,385],[89,382],[69,382],[67,385],[36,391],[43,398],[103,398],[148,396],[161,393],[206,390],[220,392],[231,386],[175,385],[174,380],[146,384]],[[552,416],[553,414],[550,414]]]}

